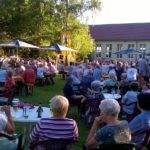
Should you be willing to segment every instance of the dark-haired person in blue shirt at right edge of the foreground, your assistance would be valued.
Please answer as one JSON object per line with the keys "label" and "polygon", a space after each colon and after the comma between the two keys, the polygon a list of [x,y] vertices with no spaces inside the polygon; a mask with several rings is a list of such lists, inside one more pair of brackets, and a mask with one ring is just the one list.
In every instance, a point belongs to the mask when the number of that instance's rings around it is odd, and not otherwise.
{"label": "dark-haired person in blue shirt at right edge of the foreground", "polygon": [[146,130],[150,128],[150,93],[140,93],[137,99],[137,106],[141,113],[129,123],[129,127],[132,135],[131,141],[140,149]]}

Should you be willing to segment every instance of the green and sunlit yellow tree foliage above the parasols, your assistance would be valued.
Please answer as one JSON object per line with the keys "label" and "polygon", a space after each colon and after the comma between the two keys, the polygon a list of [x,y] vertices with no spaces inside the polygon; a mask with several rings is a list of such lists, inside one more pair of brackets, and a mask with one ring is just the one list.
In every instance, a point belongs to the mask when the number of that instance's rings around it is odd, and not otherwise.
{"label": "green and sunlit yellow tree foliage above the parasols", "polygon": [[81,57],[93,49],[88,26],[77,19],[87,10],[100,10],[100,0],[0,0],[0,41],[21,39],[34,44],[61,43],[71,33],[71,47]]}

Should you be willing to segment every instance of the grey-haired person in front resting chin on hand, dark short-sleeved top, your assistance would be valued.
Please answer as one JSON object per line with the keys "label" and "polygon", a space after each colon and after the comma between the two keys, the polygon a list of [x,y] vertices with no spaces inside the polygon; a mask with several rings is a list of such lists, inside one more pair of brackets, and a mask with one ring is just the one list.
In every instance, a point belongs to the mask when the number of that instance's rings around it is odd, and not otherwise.
{"label": "grey-haired person in front resting chin on hand, dark short-sleeved top", "polygon": [[101,101],[99,108],[101,113],[95,118],[89,132],[86,140],[87,147],[92,149],[100,144],[129,143],[131,135],[128,122],[118,120],[119,103],[114,99],[105,99]]}

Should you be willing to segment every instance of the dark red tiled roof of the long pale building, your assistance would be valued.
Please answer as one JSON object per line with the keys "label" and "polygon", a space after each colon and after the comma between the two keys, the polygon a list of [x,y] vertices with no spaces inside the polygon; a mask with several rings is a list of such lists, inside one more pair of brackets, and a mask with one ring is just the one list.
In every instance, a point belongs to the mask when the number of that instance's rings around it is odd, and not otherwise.
{"label": "dark red tiled roof of the long pale building", "polygon": [[96,41],[150,40],[150,23],[90,25],[89,29]]}

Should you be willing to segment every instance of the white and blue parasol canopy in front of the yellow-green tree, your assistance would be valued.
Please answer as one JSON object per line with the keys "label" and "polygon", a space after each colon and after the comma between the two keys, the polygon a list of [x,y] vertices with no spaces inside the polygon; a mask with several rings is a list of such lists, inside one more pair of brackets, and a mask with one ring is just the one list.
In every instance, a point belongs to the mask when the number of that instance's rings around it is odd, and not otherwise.
{"label": "white and blue parasol canopy in front of the yellow-green tree", "polygon": [[51,50],[51,51],[57,51],[57,52],[63,52],[63,51],[66,51],[66,52],[77,52],[77,50],[74,50],[72,48],[69,48],[69,47],[66,47],[66,46],[63,46],[63,45],[59,45],[58,43],[55,43],[55,44],[52,44],[50,46],[47,46],[47,47],[43,47],[41,48],[42,50]]}

